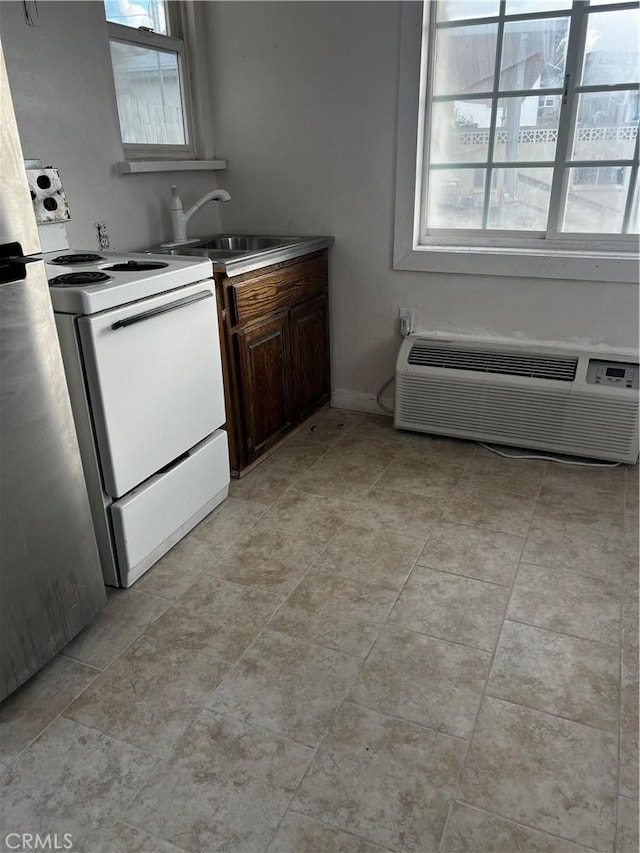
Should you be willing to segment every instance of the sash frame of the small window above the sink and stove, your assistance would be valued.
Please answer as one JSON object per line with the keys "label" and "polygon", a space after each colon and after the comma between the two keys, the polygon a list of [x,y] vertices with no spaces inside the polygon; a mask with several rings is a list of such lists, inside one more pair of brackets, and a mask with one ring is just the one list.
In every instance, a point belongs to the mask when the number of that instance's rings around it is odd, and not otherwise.
{"label": "sash frame of the small window above the sink and stove", "polygon": [[[118,110],[118,130],[122,142],[124,159],[128,161],[138,160],[194,160],[198,150],[198,128],[194,121],[194,98],[192,94],[192,70],[190,67],[191,45],[187,48],[185,30],[188,21],[184,14],[183,6],[188,3],[175,3],[168,0],[165,3],[167,29],[169,34],[156,33],[141,27],[129,27],[125,24],[116,24],[107,20],[107,32],[109,42],[109,56],[111,57],[111,42],[116,41],[130,44],[135,47],[144,47],[151,50],[175,53],[178,61],[178,74],[180,79],[180,97],[182,101],[182,115],[184,120],[184,132],[187,142],[184,145],[164,145],[161,143],[130,143],[122,140],[122,127],[120,125],[120,112],[118,108],[117,91],[115,92],[116,108]],[[195,28],[192,28],[195,29]],[[113,74],[113,65],[112,65]],[[115,90],[115,76],[114,76]]]}

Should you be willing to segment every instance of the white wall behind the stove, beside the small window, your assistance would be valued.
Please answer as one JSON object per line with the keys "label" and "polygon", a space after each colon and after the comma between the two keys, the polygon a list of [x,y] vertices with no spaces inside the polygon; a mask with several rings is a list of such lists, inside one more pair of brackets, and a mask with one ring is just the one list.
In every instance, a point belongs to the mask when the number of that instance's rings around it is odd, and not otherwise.
{"label": "white wall behind the stove, beside the small window", "polygon": [[[24,156],[60,169],[71,245],[97,248],[96,220],[106,222],[112,249],[170,239],[170,185],[178,184],[186,208],[216,188],[217,173],[119,176],[115,163],[124,158],[104,6],[46,0],[38,10],[37,26],[30,27],[22,3],[0,3],[0,36]],[[217,206],[199,212],[191,228],[218,231]]]}

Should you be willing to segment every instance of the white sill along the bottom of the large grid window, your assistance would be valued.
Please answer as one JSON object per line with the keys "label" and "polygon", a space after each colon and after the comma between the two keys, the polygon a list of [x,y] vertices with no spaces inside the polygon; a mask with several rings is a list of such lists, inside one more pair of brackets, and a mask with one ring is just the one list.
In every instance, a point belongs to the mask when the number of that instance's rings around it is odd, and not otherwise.
{"label": "white sill along the bottom of the large grid window", "polygon": [[553,278],[638,284],[638,258],[627,253],[589,254],[478,246],[396,246],[393,268],[459,275]]}

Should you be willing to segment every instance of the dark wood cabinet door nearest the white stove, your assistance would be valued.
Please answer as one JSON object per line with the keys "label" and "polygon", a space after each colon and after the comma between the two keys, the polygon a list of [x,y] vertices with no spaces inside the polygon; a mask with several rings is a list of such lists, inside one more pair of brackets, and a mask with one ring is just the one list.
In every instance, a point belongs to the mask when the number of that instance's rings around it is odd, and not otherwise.
{"label": "dark wood cabinet door nearest the white stove", "polygon": [[251,462],[291,426],[287,312],[237,332],[236,342]]}

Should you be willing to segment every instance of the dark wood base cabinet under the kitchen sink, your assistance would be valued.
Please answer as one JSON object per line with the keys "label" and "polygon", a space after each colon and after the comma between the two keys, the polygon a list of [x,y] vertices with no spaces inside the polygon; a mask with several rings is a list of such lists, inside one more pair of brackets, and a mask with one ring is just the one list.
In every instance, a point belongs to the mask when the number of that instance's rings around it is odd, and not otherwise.
{"label": "dark wood base cabinet under the kitchen sink", "polygon": [[330,398],[327,252],[217,274],[231,470]]}

